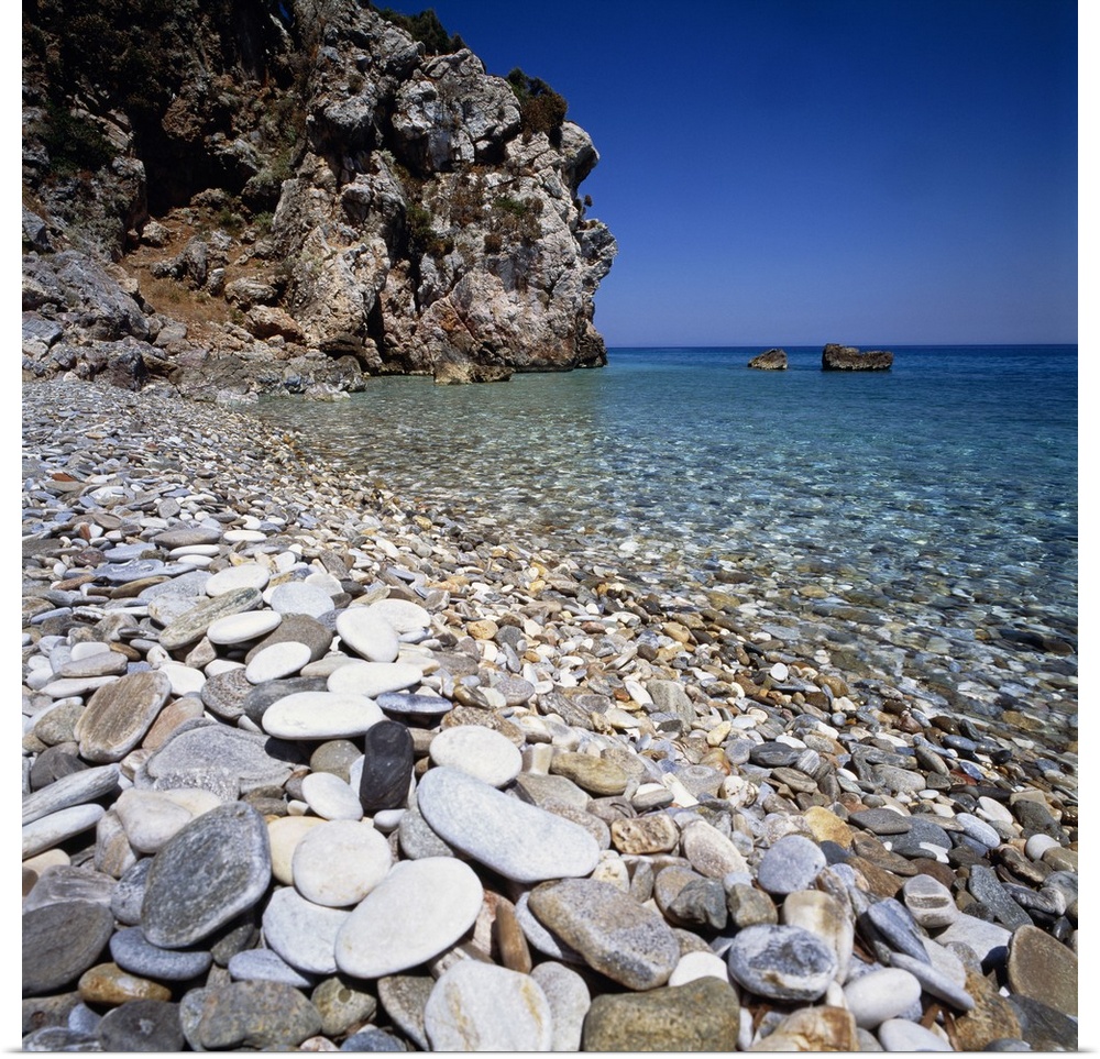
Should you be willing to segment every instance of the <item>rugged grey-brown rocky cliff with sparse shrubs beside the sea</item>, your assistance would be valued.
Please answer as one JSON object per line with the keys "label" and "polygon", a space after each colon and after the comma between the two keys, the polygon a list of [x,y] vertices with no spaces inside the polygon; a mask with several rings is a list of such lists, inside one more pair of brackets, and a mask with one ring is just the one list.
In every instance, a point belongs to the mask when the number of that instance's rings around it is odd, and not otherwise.
{"label": "rugged grey-brown rocky cliff with sparse shrubs beside the sea", "polygon": [[565,112],[430,12],[24,4],[24,378],[239,399],[603,364],[616,247]]}

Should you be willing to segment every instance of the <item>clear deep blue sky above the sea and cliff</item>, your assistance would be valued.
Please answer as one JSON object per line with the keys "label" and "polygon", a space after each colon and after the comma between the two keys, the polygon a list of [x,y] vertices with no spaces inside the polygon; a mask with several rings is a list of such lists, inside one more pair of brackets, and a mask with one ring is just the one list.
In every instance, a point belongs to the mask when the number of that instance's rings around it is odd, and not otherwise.
{"label": "clear deep blue sky above the sea and cliff", "polygon": [[388,0],[569,101],[609,346],[1077,341],[1068,0]]}

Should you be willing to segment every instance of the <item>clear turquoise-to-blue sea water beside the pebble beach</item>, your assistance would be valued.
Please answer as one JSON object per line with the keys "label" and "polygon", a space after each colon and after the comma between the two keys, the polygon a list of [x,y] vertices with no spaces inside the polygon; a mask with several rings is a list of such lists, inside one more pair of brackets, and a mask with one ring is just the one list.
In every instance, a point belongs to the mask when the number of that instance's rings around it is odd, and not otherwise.
{"label": "clear turquoise-to-blue sea water beside the pebble beach", "polygon": [[1038,672],[1076,714],[1077,346],[877,348],[890,371],[823,372],[820,346],[782,372],[748,368],[759,346],[612,349],[260,411],[410,508],[726,594],[949,702],[1023,699]]}

